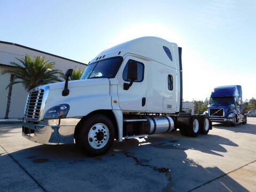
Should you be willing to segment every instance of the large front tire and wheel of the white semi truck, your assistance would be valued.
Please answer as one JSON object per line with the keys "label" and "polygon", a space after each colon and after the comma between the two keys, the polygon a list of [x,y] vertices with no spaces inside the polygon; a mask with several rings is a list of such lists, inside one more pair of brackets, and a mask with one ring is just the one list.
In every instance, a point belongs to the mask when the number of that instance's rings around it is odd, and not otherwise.
{"label": "large front tire and wheel of the white semi truck", "polygon": [[86,155],[106,154],[114,143],[113,123],[105,115],[88,117],[79,129],[76,143]]}

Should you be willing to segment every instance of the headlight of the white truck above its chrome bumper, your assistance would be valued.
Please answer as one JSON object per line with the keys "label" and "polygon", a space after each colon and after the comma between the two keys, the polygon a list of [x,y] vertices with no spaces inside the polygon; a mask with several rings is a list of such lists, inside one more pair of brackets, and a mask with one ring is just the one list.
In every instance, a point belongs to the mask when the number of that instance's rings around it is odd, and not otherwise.
{"label": "headlight of the white truck above its chrome bumper", "polygon": [[68,104],[61,104],[48,109],[44,115],[44,119],[65,118],[69,111]]}

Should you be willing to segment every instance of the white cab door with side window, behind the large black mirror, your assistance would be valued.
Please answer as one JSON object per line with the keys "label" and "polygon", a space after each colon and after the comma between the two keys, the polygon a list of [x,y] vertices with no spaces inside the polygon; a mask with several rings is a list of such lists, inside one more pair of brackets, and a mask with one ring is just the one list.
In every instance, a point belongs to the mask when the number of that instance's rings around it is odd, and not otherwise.
{"label": "white cab door with side window, behind the large black mirror", "polygon": [[[138,65],[137,69],[137,79],[134,80],[130,87],[127,86],[131,83],[131,79],[127,77],[128,66],[130,62],[136,62]],[[145,61],[127,56],[121,70],[118,74],[118,97],[119,97],[119,106],[122,110],[126,111],[146,111],[146,102],[147,102],[147,66]],[[126,90],[127,89],[127,90]]]}

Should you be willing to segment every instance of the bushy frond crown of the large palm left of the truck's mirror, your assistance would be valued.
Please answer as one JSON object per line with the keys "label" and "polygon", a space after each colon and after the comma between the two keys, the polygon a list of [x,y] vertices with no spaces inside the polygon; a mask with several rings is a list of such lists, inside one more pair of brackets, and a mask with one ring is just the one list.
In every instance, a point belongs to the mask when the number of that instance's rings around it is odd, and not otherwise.
{"label": "bushy frond crown of the large palm left of the truck's mirror", "polygon": [[[26,91],[30,91],[37,86],[37,81],[42,79],[42,84],[63,81],[62,71],[53,69],[55,62],[45,60],[45,57],[34,56],[34,60],[26,54],[25,59],[18,59],[19,62],[10,62],[15,66],[14,70],[4,70],[2,74],[12,74],[14,81],[12,84],[22,83]],[[8,85],[10,86],[10,84]],[[7,86],[7,87],[8,87]]]}

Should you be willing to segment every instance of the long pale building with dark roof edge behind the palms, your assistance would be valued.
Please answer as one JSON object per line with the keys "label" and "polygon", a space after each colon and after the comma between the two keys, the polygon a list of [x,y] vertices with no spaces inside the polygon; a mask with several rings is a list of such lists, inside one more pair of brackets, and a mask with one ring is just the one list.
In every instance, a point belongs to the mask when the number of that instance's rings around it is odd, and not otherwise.
{"label": "long pale building with dark roof edge behind the palms", "polygon": [[[10,83],[10,74],[2,75],[2,71],[6,69],[14,69],[15,67],[12,66],[10,62],[15,61],[19,63],[15,58],[25,59],[25,54],[28,54],[32,59],[34,59],[34,55],[39,57],[45,56],[45,60],[55,62],[55,68],[62,70],[63,73],[69,68],[85,69],[87,66],[85,63],[59,57],[58,55],[31,49],[30,47],[15,43],[0,41],[0,119],[4,118],[6,114],[7,96],[9,92],[9,89],[6,89],[6,86]],[[9,118],[22,118],[27,94],[28,93],[22,84],[13,85],[8,115]]]}

